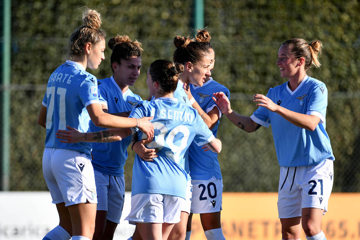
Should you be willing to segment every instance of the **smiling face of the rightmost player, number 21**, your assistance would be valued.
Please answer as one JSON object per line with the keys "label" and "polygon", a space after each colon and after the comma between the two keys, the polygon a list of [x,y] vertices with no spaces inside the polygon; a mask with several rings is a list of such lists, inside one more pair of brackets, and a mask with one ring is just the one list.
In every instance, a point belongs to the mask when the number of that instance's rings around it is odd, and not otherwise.
{"label": "smiling face of the rightmost player, number 21", "polygon": [[282,45],[278,52],[278,61],[276,64],[280,68],[280,76],[291,78],[295,76],[299,71],[298,59],[291,53],[289,45]]}

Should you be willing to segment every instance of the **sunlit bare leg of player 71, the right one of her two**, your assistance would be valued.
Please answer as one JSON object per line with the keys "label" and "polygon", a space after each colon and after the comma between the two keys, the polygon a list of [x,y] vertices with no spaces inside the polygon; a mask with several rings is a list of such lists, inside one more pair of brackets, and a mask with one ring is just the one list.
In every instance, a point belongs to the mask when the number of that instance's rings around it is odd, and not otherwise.
{"label": "sunlit bare leg of player 71, the right one of her two", "polygon": [[95,230],[96,203],[79,203],[68,206],[72,235],[93,239]]}

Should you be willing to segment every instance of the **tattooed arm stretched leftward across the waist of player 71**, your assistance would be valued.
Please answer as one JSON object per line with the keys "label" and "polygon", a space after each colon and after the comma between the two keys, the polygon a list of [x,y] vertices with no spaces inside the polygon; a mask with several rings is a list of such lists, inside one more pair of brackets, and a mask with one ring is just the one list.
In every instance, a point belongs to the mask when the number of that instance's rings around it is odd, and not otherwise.
{"label": "tattooed arm stretched leftward across the waist of player 71", "polygon": [[62,139],[60,142],[114,142],[121,141],[131,135],[130,128],[112,128],[98,132],[79,132],[76,128],[66,126],[69,130],[58,130],[56,138]]}

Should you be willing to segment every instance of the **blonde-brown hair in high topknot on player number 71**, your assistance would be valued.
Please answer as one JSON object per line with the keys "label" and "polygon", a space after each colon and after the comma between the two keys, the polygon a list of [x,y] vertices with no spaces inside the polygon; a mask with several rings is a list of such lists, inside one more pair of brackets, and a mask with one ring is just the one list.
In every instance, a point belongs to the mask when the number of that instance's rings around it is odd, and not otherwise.
{"label": "blonde-brown hair in high topknot on player number 71", "polygon": [[90,42],[93,45],[98,44],[105,39],[106,32],[100,29],[100,13],[95,10],[86,8],[82,13],[82,25],[77,28],[70,37],[70,58],[75,55],[84,55],[84,46]]}

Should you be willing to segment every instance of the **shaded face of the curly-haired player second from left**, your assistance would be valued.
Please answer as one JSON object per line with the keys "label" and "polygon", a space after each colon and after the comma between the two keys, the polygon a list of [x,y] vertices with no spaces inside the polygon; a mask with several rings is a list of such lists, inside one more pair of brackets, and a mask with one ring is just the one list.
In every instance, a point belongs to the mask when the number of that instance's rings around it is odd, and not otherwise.
{"label": "shaded face of the curly-haired player second from left", "polygon": [[[121,63],[112,64],[114,80],[121,89],[127,86],[134,86],[140,75],[141,57],[131,56],[129,59],[121,59]],[[127,88],[126,88],[127,89]]]}

